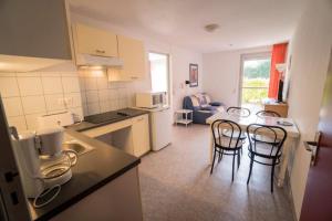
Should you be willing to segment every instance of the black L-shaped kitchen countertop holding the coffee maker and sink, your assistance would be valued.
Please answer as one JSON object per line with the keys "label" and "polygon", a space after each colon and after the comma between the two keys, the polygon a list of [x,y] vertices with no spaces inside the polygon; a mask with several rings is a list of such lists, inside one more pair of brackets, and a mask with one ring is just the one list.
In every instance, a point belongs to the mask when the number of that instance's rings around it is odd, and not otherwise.
{"label": "black L-shaped kitchen countertop holding the coffee maker and sink", "polygon": [[32,201],[29,201],[33,220],[49,220],[141,162],[139,158],[79,133],[147,114],[147,112],[138,109],[122,110],[129,110],[131,115],[101,124],[83,122],[66,128],[66,134],[94,149],[79,156],[77,164],[72,167],[72,179],[61,187],[59,196],[52,202],[43,208],[34,209]]}

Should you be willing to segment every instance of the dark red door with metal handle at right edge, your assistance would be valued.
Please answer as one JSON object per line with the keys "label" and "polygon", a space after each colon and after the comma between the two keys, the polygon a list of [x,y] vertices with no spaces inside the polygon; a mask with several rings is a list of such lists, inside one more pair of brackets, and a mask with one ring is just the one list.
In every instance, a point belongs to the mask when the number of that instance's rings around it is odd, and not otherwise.
{"label": "dark red door with metal handle at right edge", "polygon": [[332,50],[318,130],[320,137],[308,175],[300,221],[332,220]]}

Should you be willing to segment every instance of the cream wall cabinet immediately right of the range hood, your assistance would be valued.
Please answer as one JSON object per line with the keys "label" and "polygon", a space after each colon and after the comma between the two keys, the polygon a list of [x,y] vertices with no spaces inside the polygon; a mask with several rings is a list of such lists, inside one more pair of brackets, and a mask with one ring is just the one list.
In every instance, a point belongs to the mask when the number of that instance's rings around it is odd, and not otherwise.
{"label": "cream wall cabinet immediately right of the range hood", "polygon": [[134,81],[145,77],[145,50],[142,41],[117,35],[118,57],[124,62],[122,69],[110,70],[108,80]]}

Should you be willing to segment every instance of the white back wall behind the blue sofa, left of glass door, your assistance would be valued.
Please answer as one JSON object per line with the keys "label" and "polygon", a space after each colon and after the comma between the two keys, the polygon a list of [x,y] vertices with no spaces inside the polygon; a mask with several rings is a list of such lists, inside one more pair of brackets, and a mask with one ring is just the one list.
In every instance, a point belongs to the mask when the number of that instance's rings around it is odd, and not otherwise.
{"label": "white back wall behind the blue sofa, left of glass door", "polygon": [[241,55],[270,52],[271,46],[203,54],[204,91],[227,106],[239,104]]}

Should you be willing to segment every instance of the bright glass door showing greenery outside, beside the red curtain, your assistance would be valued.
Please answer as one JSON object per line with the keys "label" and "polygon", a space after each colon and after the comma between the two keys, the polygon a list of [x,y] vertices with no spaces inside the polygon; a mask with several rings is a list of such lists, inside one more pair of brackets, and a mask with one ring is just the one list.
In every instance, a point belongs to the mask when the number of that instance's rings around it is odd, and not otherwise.
{"label": "bright glass door showing greenery outside, beside the red curtain", "polygon": [[268,98],[271,54],[246,54],[241,57],[240,106],[260,109]]}

